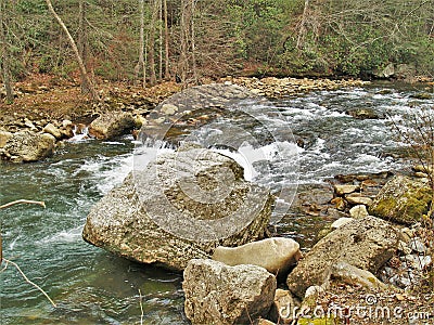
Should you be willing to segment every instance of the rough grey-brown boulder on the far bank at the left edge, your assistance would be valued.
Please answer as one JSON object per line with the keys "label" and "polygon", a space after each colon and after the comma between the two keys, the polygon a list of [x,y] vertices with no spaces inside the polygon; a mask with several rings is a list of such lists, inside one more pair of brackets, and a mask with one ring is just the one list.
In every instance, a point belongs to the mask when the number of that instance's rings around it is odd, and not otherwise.
{"label": "rough grey-brown boulder on the far bank at the left edge", "polygon": [[3,147],[3,156],[13,162],[37,161],[50,156],[55,138],[48,133],[22,131],[13,133]]}

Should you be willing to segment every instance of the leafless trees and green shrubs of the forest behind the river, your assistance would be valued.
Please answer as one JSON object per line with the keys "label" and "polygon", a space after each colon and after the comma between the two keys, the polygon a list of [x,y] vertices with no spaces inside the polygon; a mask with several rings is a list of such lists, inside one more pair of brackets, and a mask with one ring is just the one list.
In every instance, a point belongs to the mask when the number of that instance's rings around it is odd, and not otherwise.
{"label": "leafless trees and green shrubs of the forest behind the river", "polygon": [[[434,0],[53,0],[91,79],[434,72]],[[0,0],[2,79],[79,77],[46,0]]]}

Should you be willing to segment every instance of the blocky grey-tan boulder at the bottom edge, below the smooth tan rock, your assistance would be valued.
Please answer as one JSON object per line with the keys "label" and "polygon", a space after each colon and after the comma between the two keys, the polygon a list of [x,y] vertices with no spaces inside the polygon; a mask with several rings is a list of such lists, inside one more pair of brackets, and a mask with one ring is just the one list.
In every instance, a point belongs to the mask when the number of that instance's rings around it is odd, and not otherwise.
{"label": "blocky grey-tan boulder at the bottom edge, below the smooth tan rock", "polygon": [[276,287],[264,268],[193,259],[183,272],[184,312],[193,325],[251,324],[267,315]]}

